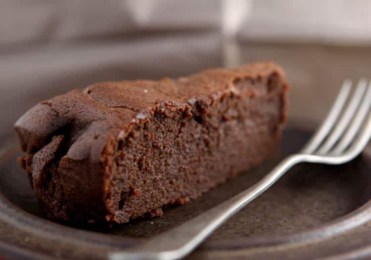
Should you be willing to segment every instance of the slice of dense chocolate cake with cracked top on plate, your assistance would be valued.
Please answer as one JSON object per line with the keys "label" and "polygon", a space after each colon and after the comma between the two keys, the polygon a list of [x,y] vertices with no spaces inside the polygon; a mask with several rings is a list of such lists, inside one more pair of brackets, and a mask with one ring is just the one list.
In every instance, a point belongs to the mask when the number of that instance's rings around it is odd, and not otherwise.
{"label": "slice of dense chocolate cake with cracked top on plate", "polygon": [[268,62],[72,90],[15,123],[20,163],[48,217],[161,216],[275,151],[286,89]]}

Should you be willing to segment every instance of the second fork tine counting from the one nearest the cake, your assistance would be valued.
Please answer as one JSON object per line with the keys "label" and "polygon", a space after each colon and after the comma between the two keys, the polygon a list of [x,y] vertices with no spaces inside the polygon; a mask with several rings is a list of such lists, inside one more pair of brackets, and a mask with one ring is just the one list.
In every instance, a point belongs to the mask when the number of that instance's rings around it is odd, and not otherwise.
{"label": "second fork tine counting from the one nearest the cake", "polygon": [[321,145],[321,147],[316,152],[316,154],[324,155],[328,153],[328,151],[333,147],[336,141],[344,133],[344,131],[349,126],[349,123],[352,121],[355,113],[357,112],[357,109],[361,103],[361,100],[366,91],[366,88],[367,88],[367,80],[361,79],[358,83],[358,86],[356,88],[356,91],[352,99],[350,100],[349,105],[345,109],[338,123],[335,125],[331,133],[328,135],[328,138],[327,140],[325,140],[325,143]]}

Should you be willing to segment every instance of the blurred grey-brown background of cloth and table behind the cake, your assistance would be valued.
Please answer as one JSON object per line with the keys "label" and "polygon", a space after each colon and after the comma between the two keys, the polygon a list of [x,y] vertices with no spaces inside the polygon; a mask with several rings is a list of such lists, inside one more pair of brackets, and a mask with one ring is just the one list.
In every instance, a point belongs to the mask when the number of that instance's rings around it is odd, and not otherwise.
{"label": "blurred grey-brown background of cloth and table behind the cake", "polygon": [[281,64],[291,118],[319,120],[371,77],[369,0],[0,0],[0,134],[41,100],[95,82]]}

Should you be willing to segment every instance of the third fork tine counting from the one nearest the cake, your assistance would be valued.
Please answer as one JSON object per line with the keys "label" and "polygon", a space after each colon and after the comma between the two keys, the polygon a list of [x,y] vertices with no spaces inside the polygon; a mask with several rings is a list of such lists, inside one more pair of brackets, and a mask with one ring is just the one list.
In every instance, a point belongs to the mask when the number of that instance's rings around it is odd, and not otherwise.
{"label": "third fork tine counting from the one nearest the cake", "polygon": [[346,131],[344,136],[341,138],[339,143],[331,151],[331,155],[339,155],[350,145],[350,143],[356,136],[357,132],[360,130],[362,123],[364,123],[365,118],[370,110],[370,106],[371,106],[371,82],[369,83],[369,87],[364,96],[363,102],[359,110],[357,111],[357,114],[351,126],[348,128],[348,130]]}

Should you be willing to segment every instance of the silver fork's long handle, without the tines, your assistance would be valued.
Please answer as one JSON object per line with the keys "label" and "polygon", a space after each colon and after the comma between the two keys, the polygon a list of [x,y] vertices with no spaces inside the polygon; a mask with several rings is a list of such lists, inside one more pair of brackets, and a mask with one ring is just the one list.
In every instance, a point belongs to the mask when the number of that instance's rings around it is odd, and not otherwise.
{"label": "silver fork's long handle, without the tines", "polygon": [[303,161],[305,157],[300,154],[290,155],[260,181],[231,199],[151,238],[142,245],[128,251],[113,253],[109,258],[111,260],[181,259],[191,253],[228,218],[266,191],[287,170]]}

